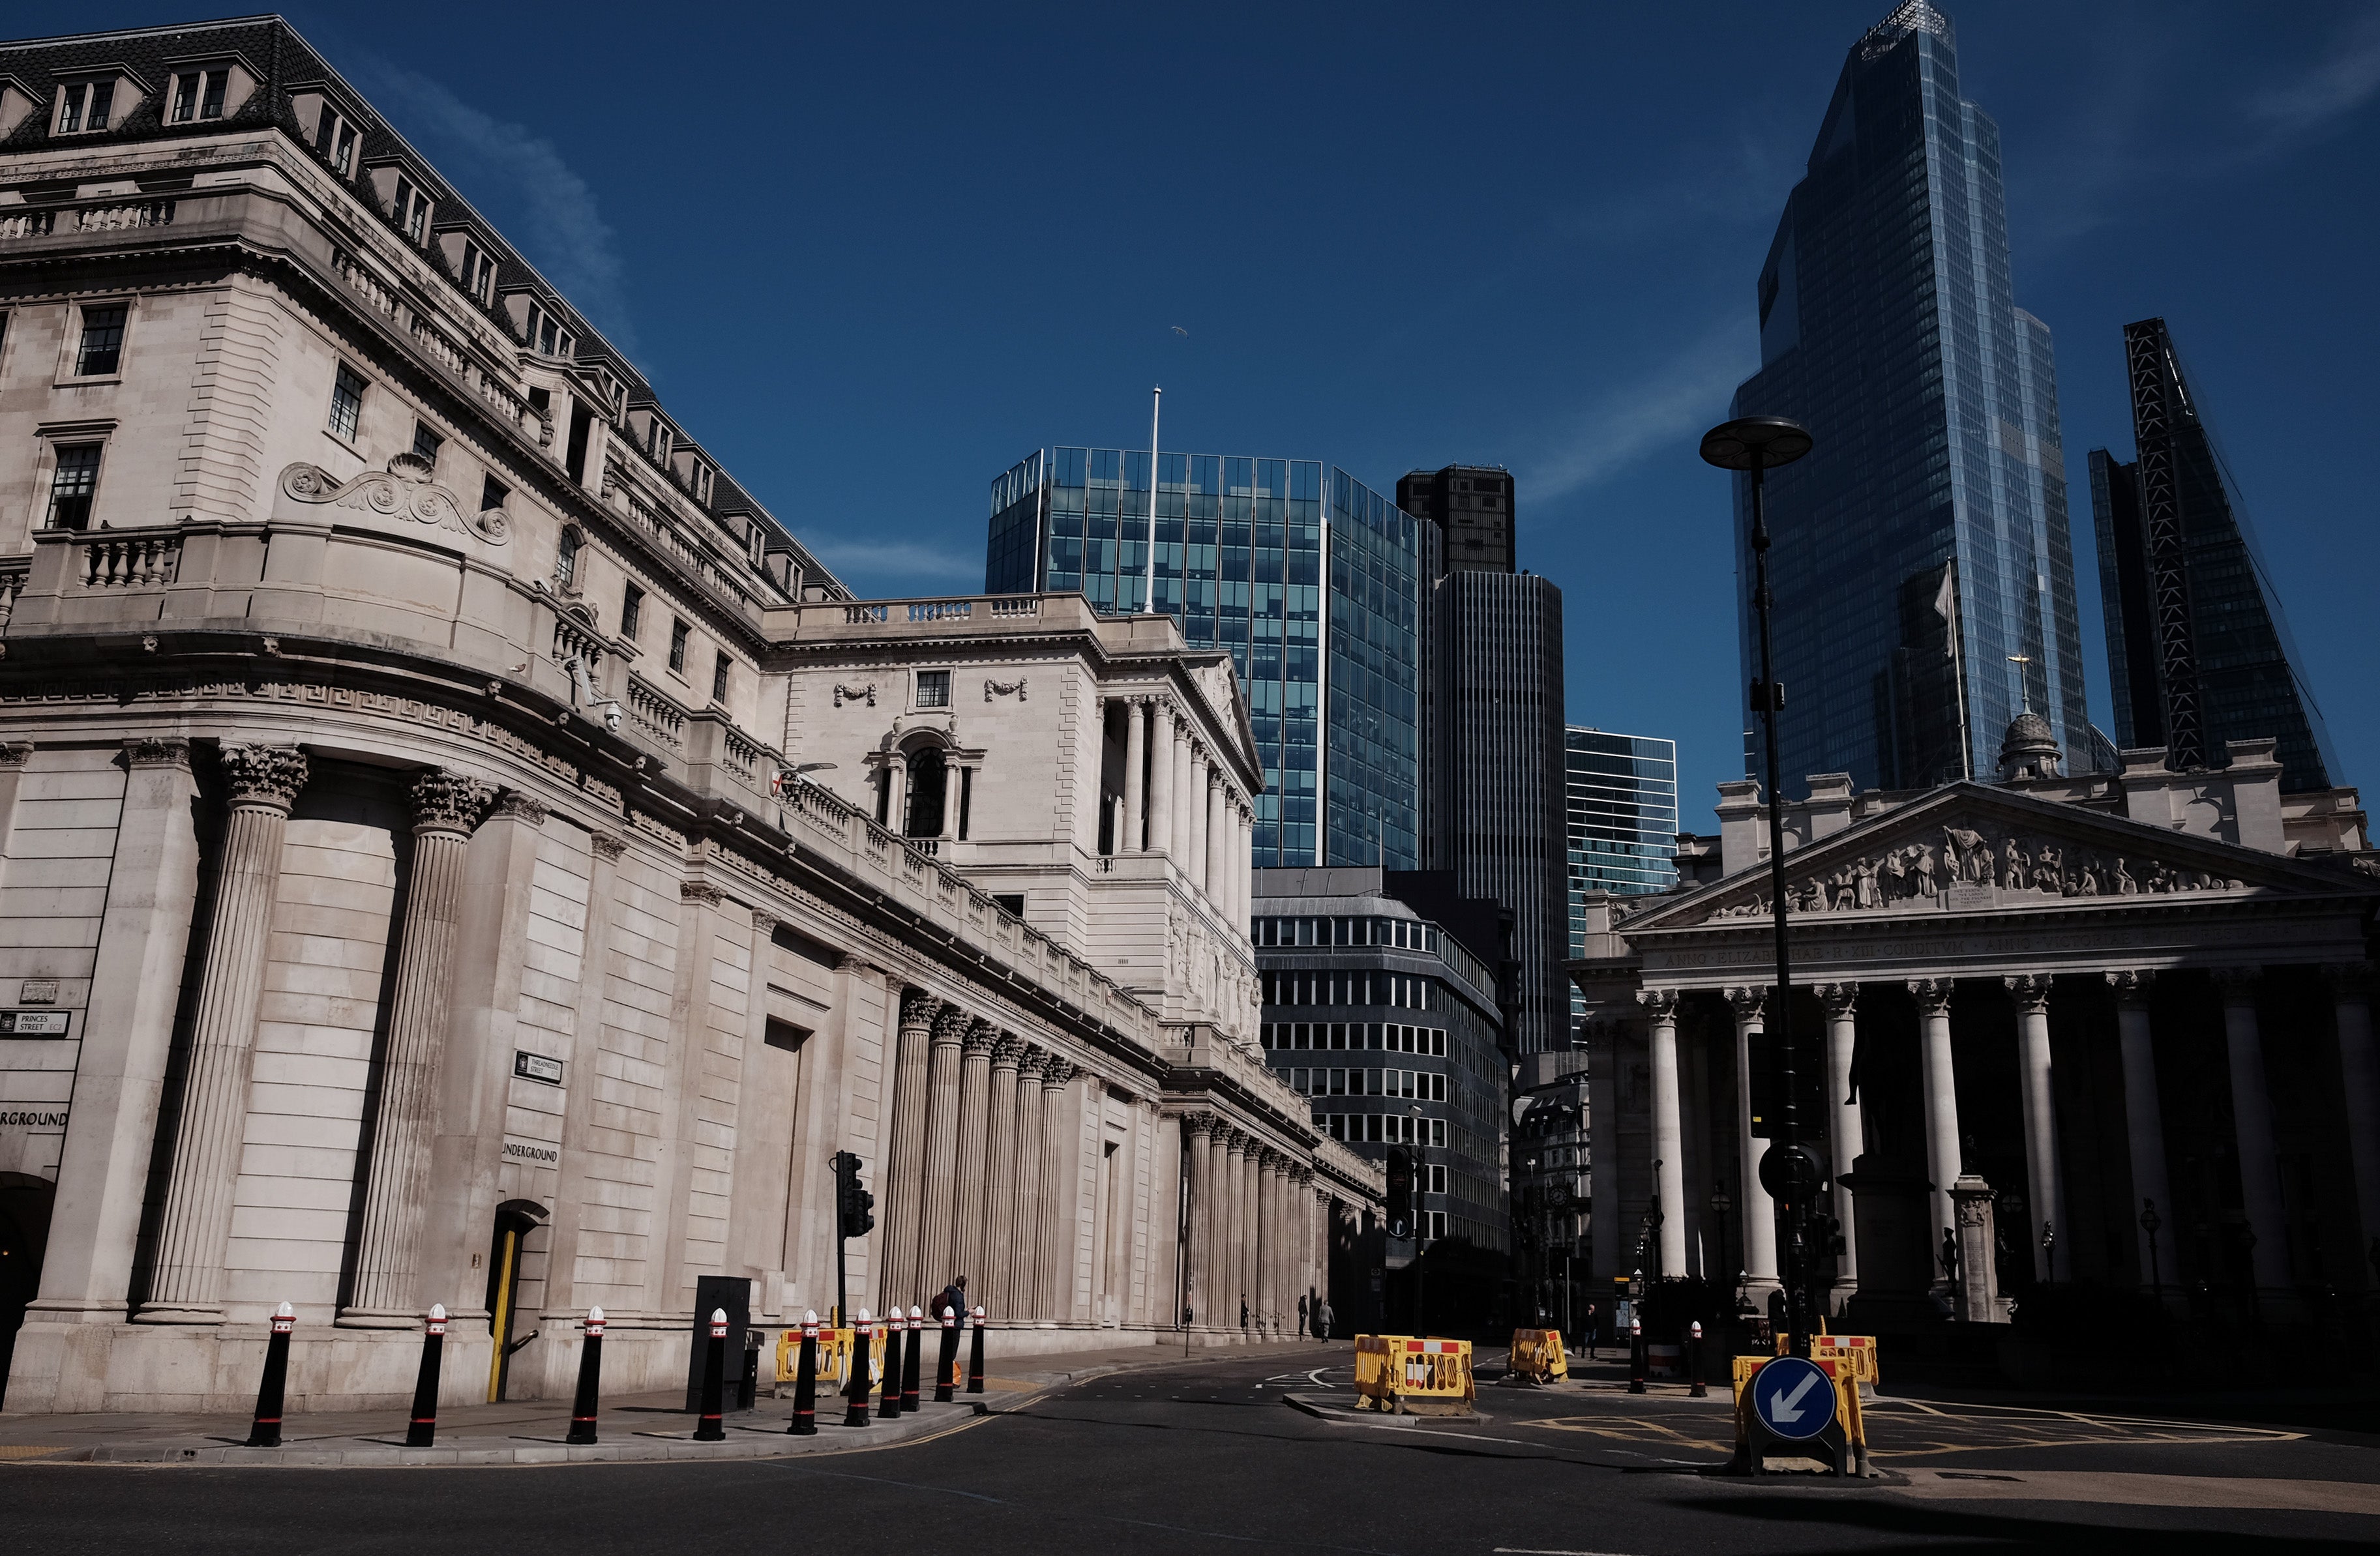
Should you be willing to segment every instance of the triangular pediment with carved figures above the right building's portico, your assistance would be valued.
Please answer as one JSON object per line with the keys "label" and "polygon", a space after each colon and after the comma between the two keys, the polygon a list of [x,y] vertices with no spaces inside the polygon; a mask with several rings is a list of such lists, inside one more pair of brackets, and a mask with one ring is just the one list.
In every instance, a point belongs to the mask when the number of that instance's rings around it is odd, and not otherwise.
{"label": "triangular pediment with carved figures above the right building's portico", "polygon": [[[1652,902],[1614,902],[1614,928],[1768,918],[1768,861]],[[1952,783],[1785,854],[1795,918],[2142,904],[2213,897],[2368,895],[2313,864],[1980,783]]]}

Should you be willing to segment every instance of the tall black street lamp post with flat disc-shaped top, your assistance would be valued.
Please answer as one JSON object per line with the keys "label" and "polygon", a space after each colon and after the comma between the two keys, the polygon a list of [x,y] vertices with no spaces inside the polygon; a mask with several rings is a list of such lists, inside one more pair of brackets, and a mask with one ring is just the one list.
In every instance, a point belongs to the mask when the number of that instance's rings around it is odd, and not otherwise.
{"label": "tall black street lamp post with flat disc-shaped top", "polygon": [[1768,1040],[1778,1054],[1778,1133],[1761,1154],[1761,1187],[1785,1204],[1785,1323],[1792,1354],[1809,1356],[1809,1199],[1823,1173],[1818,1159],[1802,1144],[1802,1121],[1795,1104],[1792,1042],[1792,952],[1785,937],[1785,783],[1778,773],[1778,711],[1785,688],[1775,680],[1775,654],[1768,630],[1768,514],[1764,483],[1771,469],[1792,464],[1809,452],[1809,428],[1785,416],[1737,416],[1702,435],[1702,459],[1723,471],[1752,476],[1752,614],[1759,616],[1761,676],[1752,683],[1752,707],[1761,714],[1761,749],[1768,757],[1768,909],[1775,921],[1778,980],[1771,999]]}

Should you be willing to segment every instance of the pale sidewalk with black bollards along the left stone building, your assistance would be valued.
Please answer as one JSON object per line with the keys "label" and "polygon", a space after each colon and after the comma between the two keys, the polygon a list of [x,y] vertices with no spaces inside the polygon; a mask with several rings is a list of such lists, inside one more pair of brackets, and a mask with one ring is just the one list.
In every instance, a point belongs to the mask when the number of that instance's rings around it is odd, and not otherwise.
{"label": "pale sidewalk with black bollards along the left stone building", "polygon": [[[1195,1349],[1190,1361],[1250,1356],[1299,1359],[1319,1344]],[[1335,1347],[1333,1347],[1335,1354]],[[785,1458],[793,1454],[845,1454],[926,1442],[964,1425],[1014,1411],[1052,1389],[1109,1373],[1183,1366],[1178,1347],[1135,1344],[1111,1351],[1057,1351],[1042,1356],[988,1356],[983,1394],[957,1394],[933,1404],[933,1389],[916,1416],[878,1420],[873,1401],[866,1428],[843,1425],[843,1399],[821,1394],[819,1435],[788,1437],[793,1385],[785,1399],[762,1394],[752,1411],[728,1413],[726,1442],[693,1442],[695,1416],[685,1394],[628,1394],[605,1399],[597,1442],[571,1447],[569,1399],[516,1404],[455,1404],[438,1411],[438,1447],[405,1447],[405,1408],[324,1411],[290,1416],[278,1449],[250,1449],[245,1416],[105,1413],[105,1416],[0,1416],[0,1463],[205,1463],[288,1468],[395,1468],[395,1466],[519,1466],[519,1463],[654,1463],[688,1458]]]}

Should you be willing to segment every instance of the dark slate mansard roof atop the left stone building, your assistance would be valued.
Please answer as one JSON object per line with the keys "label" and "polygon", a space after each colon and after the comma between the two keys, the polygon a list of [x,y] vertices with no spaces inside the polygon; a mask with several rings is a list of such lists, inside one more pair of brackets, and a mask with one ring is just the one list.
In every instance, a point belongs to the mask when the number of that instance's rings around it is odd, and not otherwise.
{"label": "dark slate mansard roof atop the left stone building", "polygon": [[[176,71],[219,59],[238,62],[262,83],[262,90],[250,93],[240,105],[226,102],[226,112],[219,119],[169,124],[167,102]],[[36,105],[36,112],[24,114],[12,128],[7,128],[5,136],[0,136],[0,155],[60,145],[62,138],[52,133],[52,114],[48,112],[57,98],[57,83],[88,79],[90,74],[105,69],[129,74],[143,86],[143,93],[138,102],[117,105],[117,117],[109,128],[95,133],[81,131],[71,136],[71,145],[76,148],[157,143],[188,136],[219,136],[226,128],[269,126],[283,131],[295,145],[305,148],[307,155],[328,169],[328,159],[314,148],[312,126],[300,124],[293,102],[298,93],[319,93],[328,98],[359,133],[355,164],[345,176],[345,183],[367,209],[378,212],[390,228],[397,226],[397,219],[388,214],[371,190],[371,169],[402,164],[405,176],[412,178],[436,207],[433,231],[466,228],[471,240],[490,259],[495,259],[495,286],[490,288],[490,300],[478,302],[459,286],[457,297],[466,297],[469,305],[481,309],[481,314],[486,314],[490,324],[500,326],[507,338],[519,338],[519,328],[502,305],[509,293],[533,293],[540,307],[550,305],[576,335],[574,362],[581,366],[600,364],[626,388],[621,412],[657,412],[669,423],[674,445],[697,454],[716,471],[712,481],[712,500],[707,504],[712,519],[724,521],[731,514],[750,516],[766,535],[766,550],[793,554],[804,583],[823,588],[838,600],[850,597],[850,590],[833,576],[833,571],[828,571],[776,514],[771,514],[747,488],[735,483],[735,478],[719,466],[719,459],[704,452],[697,440],[688,438],[674,416],[659,409],[659,395],[652,383],[635,371],[635,364],[631,364],[628,357],[614,347],[555,283],[538,274],[538,269],[519,250],[514,250],[502,233],[497,233],[495,224],[481,217],[478,209],[474,209],[471,202],[438,174],[431,159],[414,150],[412,143],[407,143],[405,136],[400,136],[397,128],[390,126],[371,107],[371,102],[340,76],[328,59],[300,38],[298,29],[293,29],[283,17],[233,17],[226,21],[193,21],[186,26],[152,26],[0,43],[0,88],[14,86]],[[733,526],[724,523],[724,528]]]}

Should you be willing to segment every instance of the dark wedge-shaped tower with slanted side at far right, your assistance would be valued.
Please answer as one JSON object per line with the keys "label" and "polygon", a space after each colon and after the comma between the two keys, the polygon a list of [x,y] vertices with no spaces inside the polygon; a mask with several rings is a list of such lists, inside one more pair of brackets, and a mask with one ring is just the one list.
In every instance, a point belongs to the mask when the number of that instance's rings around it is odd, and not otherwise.
{"label": "dark wedge-shaped tower with slanted side at far right", "polygon": [[2325,790],[2323,711],[2166,321],[2128,324],[2123,359],[2140,462],[2090,452],[2116,740],[2202,768],[2225,740],[2278,738],[2280,788]]}

